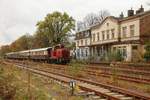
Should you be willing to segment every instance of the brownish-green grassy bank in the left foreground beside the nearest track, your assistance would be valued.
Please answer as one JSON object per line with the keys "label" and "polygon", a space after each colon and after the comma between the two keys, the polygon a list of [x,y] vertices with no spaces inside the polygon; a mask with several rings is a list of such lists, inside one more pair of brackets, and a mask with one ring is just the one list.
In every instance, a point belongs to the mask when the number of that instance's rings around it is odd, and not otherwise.
{"label": "brownish-green grassy bank in the left foreground beside the nearest track", "polygon": [[2,100],[83,100],[70,96],[70,88],[13,64],[0,61],[0,99]]}

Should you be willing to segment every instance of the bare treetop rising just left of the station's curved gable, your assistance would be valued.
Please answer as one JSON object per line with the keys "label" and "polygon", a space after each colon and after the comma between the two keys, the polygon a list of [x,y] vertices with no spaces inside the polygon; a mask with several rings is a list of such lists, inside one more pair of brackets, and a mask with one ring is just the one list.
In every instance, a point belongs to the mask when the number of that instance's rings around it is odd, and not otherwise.
{"label": "bare treetop rising just left of the station's curved gable", "polygon": [[107,10],[101,10],[98,12],[98,22],[101,23],[107,16],[110,16],[110,13]]}

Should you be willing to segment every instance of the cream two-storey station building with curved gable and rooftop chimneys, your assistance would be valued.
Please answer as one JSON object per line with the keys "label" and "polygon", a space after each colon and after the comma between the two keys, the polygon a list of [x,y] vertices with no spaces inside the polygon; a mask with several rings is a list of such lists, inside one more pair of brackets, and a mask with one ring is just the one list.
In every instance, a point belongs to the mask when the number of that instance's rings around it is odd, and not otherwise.
{"label": "cream two-storey station building with curved gable and rooftop chimneys", "polygon": [[[138,61],[144,54],[144,43],[150,40],[150,11],[144,11],[141,6],[136,12],[128,10],[127,17],[123,13],[120,17],[108,16],[100,24],[88,31],[90,43],[89,55],[100,60],[110,51],[119,50],[125,61]],[[84,32],[83,32],[84,33]],[[82,32],[80,32],[82,35]],[[76,34],[78,35],[78,34]],[[76,40],[76,48],[80,48]],[[82,42],[81,42],[82,43]]]}

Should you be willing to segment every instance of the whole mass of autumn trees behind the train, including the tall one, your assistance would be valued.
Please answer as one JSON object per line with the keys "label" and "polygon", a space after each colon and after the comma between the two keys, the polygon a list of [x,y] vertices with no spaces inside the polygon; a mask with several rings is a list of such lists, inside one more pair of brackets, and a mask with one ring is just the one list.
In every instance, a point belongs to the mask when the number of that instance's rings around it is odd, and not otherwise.
{"label": "whole mass of autumn trees behind the train, including the tall one", "polygon": [[0,49],[0,55],[33,48],[43,48],[55,44],[69,44],[69,36],[75,29],[75,20],[67,13],[53,12],[47,14],[44,20],[37,23],[33,35],[25,34],[7,46]]}

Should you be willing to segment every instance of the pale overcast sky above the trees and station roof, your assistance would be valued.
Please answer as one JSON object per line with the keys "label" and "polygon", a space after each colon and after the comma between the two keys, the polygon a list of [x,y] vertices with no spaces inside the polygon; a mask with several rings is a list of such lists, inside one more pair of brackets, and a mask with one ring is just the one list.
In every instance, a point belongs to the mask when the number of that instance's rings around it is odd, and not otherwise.
{"label": "pale overcast sky above the trees and station roof", "polygon": [[36,23],[47,13],[67,12],[76,20],[82,20],[90,12],[108,10],[118,16],[128,9],[142,4],[146,10],[149,0],[0,0],[0,45],[10,44],[25,33],[33,34]]}

